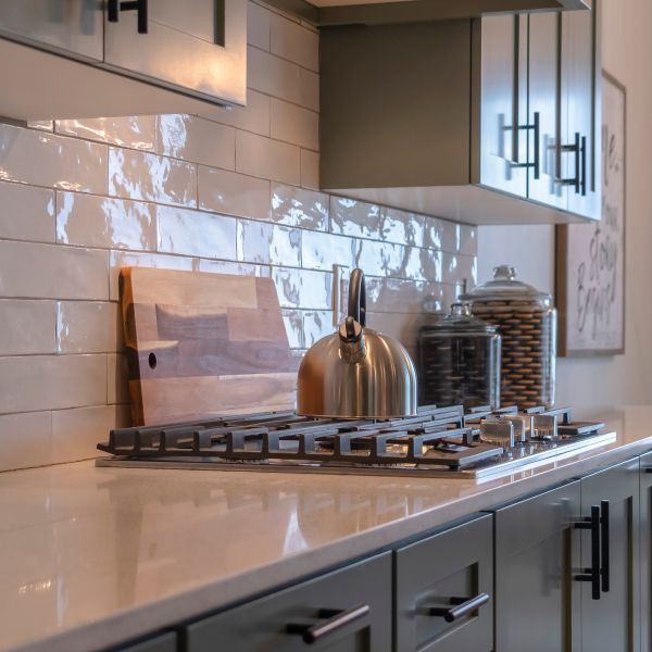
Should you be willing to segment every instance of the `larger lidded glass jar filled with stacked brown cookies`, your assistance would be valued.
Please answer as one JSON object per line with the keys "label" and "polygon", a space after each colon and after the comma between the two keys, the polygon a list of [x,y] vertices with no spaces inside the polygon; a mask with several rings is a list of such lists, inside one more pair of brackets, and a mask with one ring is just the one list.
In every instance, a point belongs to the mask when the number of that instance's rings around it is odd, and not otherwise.
{"label": "larger lidded glass jar filled with stacked brown cookies", "polygon": [[474,315],[502,336],[502,405],[521,409],[554,404],[556,311],[552,297],[516,280],[509,265],[462,297]]}

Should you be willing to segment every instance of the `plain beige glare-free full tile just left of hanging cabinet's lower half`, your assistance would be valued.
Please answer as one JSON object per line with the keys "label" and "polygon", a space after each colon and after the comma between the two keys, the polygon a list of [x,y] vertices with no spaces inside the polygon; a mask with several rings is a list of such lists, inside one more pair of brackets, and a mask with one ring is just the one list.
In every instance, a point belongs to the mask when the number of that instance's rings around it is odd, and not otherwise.
{"label": "plain beige glare-free full tile just left of hanging cabinet's lower half", "polygon": [[256,134],[236,134],[236,170],[243,174],[298,186],[301,180],[299,148]]}

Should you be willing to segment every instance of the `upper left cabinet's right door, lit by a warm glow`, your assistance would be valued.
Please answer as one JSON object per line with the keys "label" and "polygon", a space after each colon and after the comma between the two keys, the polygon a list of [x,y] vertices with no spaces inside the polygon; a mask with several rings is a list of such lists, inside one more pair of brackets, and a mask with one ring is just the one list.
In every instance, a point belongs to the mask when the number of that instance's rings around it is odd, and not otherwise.
{"label": "upper left cabinet's right door, lit by a warm glow", "polygon": [[[147,2],[146,2],[147,4]],[[147,34],[138,12],[106,14],[104,63],[206,99],[244,104],[247,2],[151,0]]]}

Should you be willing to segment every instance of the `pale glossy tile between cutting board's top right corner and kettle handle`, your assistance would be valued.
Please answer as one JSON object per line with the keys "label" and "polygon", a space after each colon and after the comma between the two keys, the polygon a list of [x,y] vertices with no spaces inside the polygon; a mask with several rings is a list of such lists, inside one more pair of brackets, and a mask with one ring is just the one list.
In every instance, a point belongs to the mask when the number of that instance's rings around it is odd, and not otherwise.
{"label": "pale glossy tile between cutting board's top right corner and kettle handle", "polygon": [[272,278],[281,308],[330,310],[333,274],[272,267]]}

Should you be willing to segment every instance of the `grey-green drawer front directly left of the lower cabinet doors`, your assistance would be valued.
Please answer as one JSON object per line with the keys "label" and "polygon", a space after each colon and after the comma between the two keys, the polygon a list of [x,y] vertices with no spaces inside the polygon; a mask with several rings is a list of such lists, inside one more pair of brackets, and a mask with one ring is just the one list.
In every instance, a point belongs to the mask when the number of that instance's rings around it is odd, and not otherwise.
{"label": "grey-green drawer front directly left of the lower cabinet doors", "polygon": [[[396,552],[396,650],[490,652],[493,649],[493,526],[486,515]],[[453,623],[430,615],[450,599],[487,593]]]}

